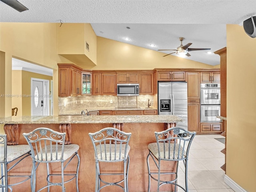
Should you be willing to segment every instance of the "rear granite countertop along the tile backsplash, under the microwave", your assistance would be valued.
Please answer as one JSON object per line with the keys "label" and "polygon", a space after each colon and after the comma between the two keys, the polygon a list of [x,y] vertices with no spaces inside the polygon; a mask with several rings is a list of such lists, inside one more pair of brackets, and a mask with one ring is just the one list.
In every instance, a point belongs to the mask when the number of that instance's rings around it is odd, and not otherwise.
{"label": "rear granite countertop along the tile backsplash, under the microwave", "polygon": [[[157,110],[156,108],[143,108],[140,106],[117,106],[117,107],[97,107],[97,108],[84,108],[82,110],[84,110],[86,112],[86,109],[89,112],[94,112],[94,111],[120,111],[120,110]],[[65,112],[63,114],[59,114],[59,115],[81,115],[82,110],[69,110],[68,112]]]}

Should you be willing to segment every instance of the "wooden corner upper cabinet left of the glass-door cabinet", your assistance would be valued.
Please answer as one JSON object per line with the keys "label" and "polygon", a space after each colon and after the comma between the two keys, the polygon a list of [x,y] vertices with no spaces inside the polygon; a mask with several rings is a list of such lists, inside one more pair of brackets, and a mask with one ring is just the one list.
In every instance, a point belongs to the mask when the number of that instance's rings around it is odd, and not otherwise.
{"label": "wooden corner upper cabinet left of the glass-door cabinet", "polygon": [[81,95],[81,70],[74,64],[58,64],[59,96]]}

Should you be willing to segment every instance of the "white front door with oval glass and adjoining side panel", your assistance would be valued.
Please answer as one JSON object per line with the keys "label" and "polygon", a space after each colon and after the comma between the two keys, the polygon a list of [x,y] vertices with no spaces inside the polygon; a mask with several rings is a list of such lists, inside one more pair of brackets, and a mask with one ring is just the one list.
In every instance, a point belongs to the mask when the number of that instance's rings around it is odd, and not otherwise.
{"label": "white front door with oval glass and adjoining side panel", "polygon": [[49,80],[31,78],[31,115],[49,115]]}

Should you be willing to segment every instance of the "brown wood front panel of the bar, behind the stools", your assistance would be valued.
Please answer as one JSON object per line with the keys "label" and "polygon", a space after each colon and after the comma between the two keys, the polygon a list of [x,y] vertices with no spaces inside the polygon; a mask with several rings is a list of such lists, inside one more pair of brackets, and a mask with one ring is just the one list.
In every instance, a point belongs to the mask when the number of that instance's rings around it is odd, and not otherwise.
{"label": "brown wood front panel of the bar, behind the stools", "polygon": [[[113,124],[71,124],[72,127],[72,143],[80,146],[78,154],[80,156],[80,169],[78,176],[79,191],[92,192],[95,190],[95,160],[94,150],[92,147],[91,140],[88,136],[89,132],[96,132],[105,127],[112,127]],[[19,144],[27,144],[26,140],[22,136],[22,133],[31,132],[32,130],[39,127],[48,127],[53,130],[59,131],[59,124],[19,124]],[[154,132],[163,131],[165,129],[164,123],[128,123],[124,124],[124,131],[131,132],[132,137],[130,139],[130,168],[128,176],[128,186],[130,192],[146,192],[148,190],[148,168],[146,163],[146,157],[148,155],[148,144],[150,142],[156,142]],[[32,159],[27,157],[27,160],[23,162],[21,167],[28,166],[28,170],[31,170]],[[60,166],[54,164],[55,166]],[[72,164],[72,166],[75,166]],[[162,168],[165,170],[173,170],[175,164],[164,164]],[[151,165],[153,167],[153,164]],[[105,164],[102,165],[102,169],[106,170],[119,170],[122,168],[122,164]],[[153,169],[154,170],[154,169]],[[40,164],[37,170],[37,184],[36,189],[42,187],[46,180],[46,166]],[[11,180],[10,180],[11,181]],[[151,180],[151,191],[156,191],[157,182]],[[75,180],[67,183],[66,192],[76,191]],[[164,185],[161,191],[173,191],[172,185]],[[22,185],[13,186],[13,191],[29,192],[30,191],[30,180]],[[59,186],[52,187],[50,191],[60,192]],[[120,188],[114,186],[106,187],[101,192],[114,192],[120,191]]]}

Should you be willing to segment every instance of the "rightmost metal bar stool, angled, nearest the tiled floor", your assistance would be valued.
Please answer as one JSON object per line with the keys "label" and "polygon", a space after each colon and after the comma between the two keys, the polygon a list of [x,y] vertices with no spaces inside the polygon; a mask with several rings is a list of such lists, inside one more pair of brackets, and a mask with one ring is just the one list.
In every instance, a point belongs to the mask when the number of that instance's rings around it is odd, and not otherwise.
{"label": "rightmost metal bar stool, angled, nearest the tiled floor", "polygon": [[[150,178],[157,181],[157,192],[164,184],[173,184],[176,192],[177,186],[188,192],[188,153],[191,142],[196,132],[189,132],[180,127],[172,127],[162,132],[155,132],[156,142],[148,144],[148,192],[150,191]],[[150,172],[149,158],[152,158],[158,172]],[[161,161],[177,162],[174,172],[164,172],[161,170]],[[185,188],[177,184],[179,161],[183,161],[185,166]],[[157,178],[154,177],[157,175]],[[175,175],[171,181],[161,179],[162,175]]]}

